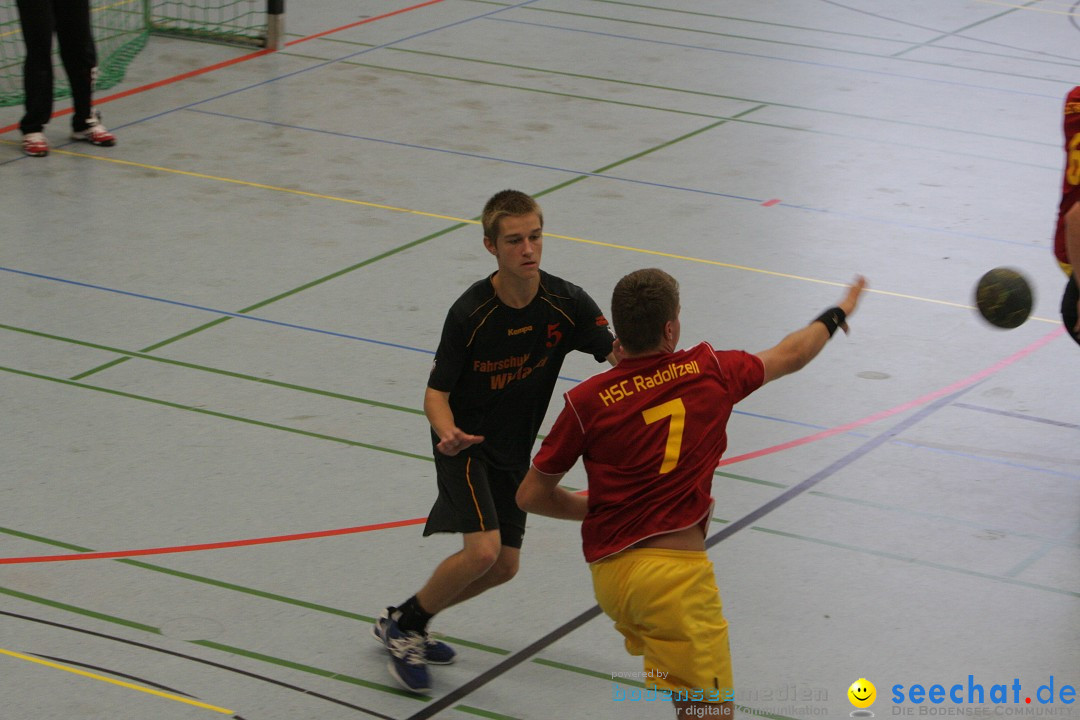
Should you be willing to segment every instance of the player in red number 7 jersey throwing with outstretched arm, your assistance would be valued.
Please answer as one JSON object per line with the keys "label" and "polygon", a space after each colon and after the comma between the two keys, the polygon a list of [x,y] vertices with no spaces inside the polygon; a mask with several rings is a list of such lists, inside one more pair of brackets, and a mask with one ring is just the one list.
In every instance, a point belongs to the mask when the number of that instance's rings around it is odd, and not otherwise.
{"label": "player in red number 7 jersey throwing with outstretched arm", "polygon": [[[865,286],[856,279],[837,307],[752,354],[676,350],[678,283],[662,270],[626,275],[611,297],[619,364],[565,394],[517,491],[526,512],[582,520],[596,599],[678,718],[732,717],[728,625],[705,553],[732,406],[847,331]],[[588,497],[558,487],[578,458]]]}

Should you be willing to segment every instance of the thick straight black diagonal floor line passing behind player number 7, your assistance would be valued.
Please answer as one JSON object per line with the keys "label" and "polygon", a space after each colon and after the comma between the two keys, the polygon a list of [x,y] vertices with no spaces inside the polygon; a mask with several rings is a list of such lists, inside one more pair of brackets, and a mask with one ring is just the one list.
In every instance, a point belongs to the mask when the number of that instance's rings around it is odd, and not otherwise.
{"label": "thick straight black diagonal floor line passing behind player number 7", "polygon": [[[740,519],[731,522],[730,525],[725,526],[723,530],[720,530],[715,535],[705,541],[705,547],[706,548],[713,547],[714,545],[716,545],[716,543],[727,540],[732,534],[739,532],[740,530],[747,527],[752,522],[756,521],[760,517],[768,515],[769,513],[777,510],[778,507],[780,507],[787,501],[792,500],[793,498],[802,494],[804,492],[806,492],[813,486],[818,485],[825,478],[835,475],[837,472],[843,470],[854,461],[867,454],[870,450],[874,450],[875,448],[878,448],[881,445],[885,445],[886,443],[892,440],[894,437],[896,437],[897,435],[909,429],[912,425],[915,425],[916,423],[927,419],[937,410],[953,403],[953,400],[960,397],[964,393],[968,393],[971,390],[977,388],[980,384],[982,384],[982,381],[968,385],[967,388],[962,388],[961,390],[958,390],[950,395],[945,395],[943,397],[937,398],[930,405],[927,405],[926,407],[920,409],[918,412],[912,415],[906,420],[897,423],[893,427],[890,427],[880,435],[870,438],[868,441],[855,448],[854,450],[843,456],[842,458],[840,458],[833,464],[828,465],[824,470],[814,473],[807,479],[802,480],[798,485],[791,487],[789,489],[777,495],[775,498],[765,503],[757,510],[754,510],[747,515],[741,517]],[[511,670],[517,665],[524,663],[526,660],[528,660],[536,653],[553,644],[554,642],[563,639],[573,630],[578,629],[579,627],[581,627],[582,625],[584,625],[585,623],[588,623],[589,621],[593,620],[594,617],[600,614],[603,614],[603,611],[600,610],[599,606],[593,606],[592,608],[584,611],[573,620],[570,620],[564,625],[561,625],[559,627],[555,628],[554,630],[543,636],[536,642],[531,643],[530,646],[522,650],[518,650],[516,653],[510,655],[509,657],[498,663],[494,667],[476,676],[475,678],[464,683],[457,690],[450,691],[443,697],[440,697],[435,702],[424,706],[422,710],[419,710],[408,716],[408,718],[406,718],[405,720],[427,720],[428,718],[434,717],[436,712],[445,710],[449,706],[454,705],[455,703],[463,698],[465,695],[472,693],[474,690],[477,690],[483,685],[487,684],[488,682],[490,682],[491,680],[495,680],[499,676],[504,675],[508,670]]]}

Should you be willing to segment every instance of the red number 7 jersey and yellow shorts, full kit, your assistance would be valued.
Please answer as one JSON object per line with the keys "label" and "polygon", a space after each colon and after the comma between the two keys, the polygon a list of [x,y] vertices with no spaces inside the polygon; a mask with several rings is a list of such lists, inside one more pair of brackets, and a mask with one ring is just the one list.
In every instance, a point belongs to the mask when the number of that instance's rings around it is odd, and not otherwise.
{"label": "red number 7 jersey and yellow shorts, full kit", "polygon": [[764,381],[760,358],[705,342],[623,359],[566,393],[532,460],[548,475],[584,460],[581,533],[596,599],[627,652],[644,655],[646,684],[675,698],[733,697],[713,563],[704,551],[633,546],[694,525],[704,533],[732,406]]}

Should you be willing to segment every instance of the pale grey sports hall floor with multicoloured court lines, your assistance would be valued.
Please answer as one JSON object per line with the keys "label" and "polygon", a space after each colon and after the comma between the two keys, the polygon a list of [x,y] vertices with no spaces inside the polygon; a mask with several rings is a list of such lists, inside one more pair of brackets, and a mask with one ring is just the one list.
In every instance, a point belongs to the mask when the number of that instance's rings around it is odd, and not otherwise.
{"label": "pale grey sports hall floor with multicoloured court lines", "polygon": [[[869,279],[851,335],[731,421],[710,554],[742,714],[847,717],[865,678],[879,718],[1080,716],[1050,249],[1077,2],[288,10],[273,54],[151,40],[99,98],[114,148],[65,116],[23,158],[0,110],[0,717],[674,717],[568,522],[531,518],[518,576],[436,619],[461,653],[430,698],[369,636],[459,547],[420,535],[420,404],[503,188],[605,310],[673,273],[684,344],[762,350]],[[997,266],[1037,294],[1011,331],[971,308]]]}

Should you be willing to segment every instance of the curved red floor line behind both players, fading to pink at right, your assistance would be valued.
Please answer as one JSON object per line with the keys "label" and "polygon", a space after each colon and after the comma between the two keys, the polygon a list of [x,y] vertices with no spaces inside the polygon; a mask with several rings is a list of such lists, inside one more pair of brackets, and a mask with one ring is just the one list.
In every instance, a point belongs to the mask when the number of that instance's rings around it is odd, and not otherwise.
{"label": "curved red floor line behind both players, fading to pink at right", "polygon": [[[1027,357],[1031,353],[1038,351],[1043,345],[1054,340],[1055,338],[1065,334],[1065,327],[1058,327],[1053,332],[1036,340],[1027,348],[1020,350],[1012,355],[1009,355],[1004,359],[998,361],[994,365],[975,372],[974,375],[964,378],[963,380],[958,380],[953,384],[942,388],[941,390],[935,390],[932,393],[928,393],[922,397],[916,398],[903,405],[897,405],[894,408],[882,410],[876,412],[872,416],[867,416],[862,420],[855,420],[854,422],[849,422],[845,425],[838,425],[836,427],[831,427],[829,430],[823,430],[820,433],[814,433],[813,435],[807,435],[806,437],[800,437],[795,440],[789,440],[787,443],[781,443],[780,445],[773,445],[772,447],[762,448],[760,450],[755,450],[753,452],[746,452],[741,456],[734,456],[726,460],[721,460],[718,466],[730,465],[737,462],[743,462],[745,460],[752,460],[754,458],[760,458],[762,456],[772,454],[780,452],[782,450],[787,450],[789,448],[798,447],[800,445],[807,445],[808,443],[813,443],[815,440],[821,440],[826,437],[832,437],[833,435],[838,435],[840,433],[846,433],[848,431],[854,430],[855,427],[862,427],[863,425],[868,425],[878,420],[883,420],[886,418],[892,417],[904,412],[905,410],[910,410],[919,405],[926,405],[931,403],[939,397],[943,397],[950,393],[960,390],[961,388],[967,388],[968,385],[974,384],[980,380],[990,377],[995,372],[1003,370],[1010,365]],[[584,490],[578,492],[578,494],[585,494]],[[315,532],[301,532],[292,535],[274,535],[272,538],[254,538],[249,540],[232,540],[221,543],[204,543],[200,545],[177,545],[175,547],[151,547],[148,549],[135,549],[135,551],[114,551],[110,553],[79,553],[73,555],[40,555],[35,557],[6,557],[0,558],[0,565],[16,565],[23,562],[62,562],[69,560],[102,560],[102,559],[116,559],[123,557],[136,557],[140,555],[165,555],[170,553],[194,553],[200,551],[210,549],[220,549],[224,547],[246,547],[249,545],[265,545],[268,543],[286,543],[293,542],[295,540],[311,540],[312,538],[329,538],[333,535],[345,535],[356,532],[370,532],[373,530],[386,530],[389,528],[402,528],[409,525],[420,525],[427,521],[428,518],[417,517],[411,520],[394,520],[392,522],[379,522],[376,525],[364,525],[357,528],[341,528],[339,530],[319,530]]]}

